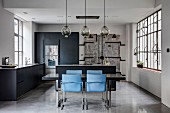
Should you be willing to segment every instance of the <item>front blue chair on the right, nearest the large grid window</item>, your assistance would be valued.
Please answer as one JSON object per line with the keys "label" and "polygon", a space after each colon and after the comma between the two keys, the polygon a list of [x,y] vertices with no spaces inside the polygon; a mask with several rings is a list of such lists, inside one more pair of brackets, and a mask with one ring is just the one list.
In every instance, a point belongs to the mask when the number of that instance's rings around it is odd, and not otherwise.
{"label": "front blue chair on the right, nearest the large grid window", "polygon": [[[106,88],[107,87],[106,87],[106,75],[105,74],[87,74],[86,93],[89,93],[89,92],[105,93],[105,96],[106,96],[106,92],[107,92]],[[85,106],[87,110],[88,103],[87,103],[86,93],[85,93]]]}

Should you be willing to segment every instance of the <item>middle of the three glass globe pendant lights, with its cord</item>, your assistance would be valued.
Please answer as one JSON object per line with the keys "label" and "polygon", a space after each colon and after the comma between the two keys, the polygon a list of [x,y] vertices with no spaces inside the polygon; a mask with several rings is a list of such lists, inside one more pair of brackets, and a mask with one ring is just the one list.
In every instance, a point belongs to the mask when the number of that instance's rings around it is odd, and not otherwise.
{"label": "middle of the three glass globe pendant lights, with its cord", "polygon": [[86,0],[85,0],[85,25],[81,29],[81,35],[85,38],[89,37],[90,29],[86,26]]}

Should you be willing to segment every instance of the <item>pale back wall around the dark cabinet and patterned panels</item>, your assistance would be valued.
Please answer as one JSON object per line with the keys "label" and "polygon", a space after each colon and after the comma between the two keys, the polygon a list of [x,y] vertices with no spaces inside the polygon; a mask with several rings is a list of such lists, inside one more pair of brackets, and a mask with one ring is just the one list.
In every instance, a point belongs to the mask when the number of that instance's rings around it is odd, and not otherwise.
{"label": "pale back wall around the dark cabinet and patterned panels", "polygon": [[[103,24],[88,24],[88,27],[90,28],[90,33],[91,34],[100,34],[100,29],[102,27]],[[120,41],[122,42],[122,44],[126,44],[126,35],[125,35],[125,26],[124,25],[107,25],[108,28],[110,29],[110,33],[111,34],[119,34],[120,35]],[[38,29],[37,32],[61,32],[61,28],[63,27],[63,25],[42,25],[39,24],[38,25]],[[69,25],[69,27],[71,28],[72,32],[80,32],[81,28],[83,27],[83,24],[76,24],[76,25]],[[84,38],[80,35],[80,39],[79,39],[79,43],[83,44],[84,42]],[[126,47],[121,47],[121,51],[120,51],[120,55],[122,57],[122,59],[126,58]],[[82,60],[83,56],[84,56],[84,48],[80,47],[80,51],[79,51],[79,59]],[[124,63],[121,63],[121,72],[122,74],[126,75],[126,66]]]}

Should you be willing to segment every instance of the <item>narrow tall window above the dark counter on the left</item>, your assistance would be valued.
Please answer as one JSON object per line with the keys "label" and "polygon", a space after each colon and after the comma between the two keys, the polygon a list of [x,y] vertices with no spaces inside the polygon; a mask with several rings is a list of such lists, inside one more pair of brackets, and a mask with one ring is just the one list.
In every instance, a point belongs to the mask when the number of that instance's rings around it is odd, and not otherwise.
{"label": "narrow tall window above the dark counter on the left", "polygon": [[23,64],[23,22],[14,19],[14,57],[15,64]]}

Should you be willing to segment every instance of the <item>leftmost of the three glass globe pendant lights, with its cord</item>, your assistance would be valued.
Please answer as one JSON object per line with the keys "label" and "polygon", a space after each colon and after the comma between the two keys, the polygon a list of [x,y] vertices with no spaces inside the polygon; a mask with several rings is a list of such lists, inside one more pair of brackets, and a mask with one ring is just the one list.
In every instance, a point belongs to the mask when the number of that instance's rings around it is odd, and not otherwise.
{"label": "leftmost of the three glass globe pendant lights, with its cord", "polygon": [[61,33],[66,38],[68,38],[68,36],[71,34],[71,29],[67,26],[67,0],[66,0],[66,25],[61,29]]}

